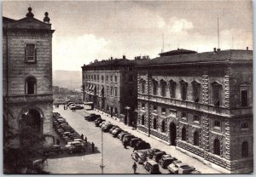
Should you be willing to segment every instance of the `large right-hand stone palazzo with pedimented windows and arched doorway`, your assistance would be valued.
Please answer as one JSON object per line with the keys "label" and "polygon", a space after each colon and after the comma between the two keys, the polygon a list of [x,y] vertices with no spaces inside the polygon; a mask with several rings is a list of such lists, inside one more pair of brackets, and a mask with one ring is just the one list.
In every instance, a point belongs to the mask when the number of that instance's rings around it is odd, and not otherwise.
{"label": "large right-hand stone palazzo with pedimented windows and arched doorway", "polygon": [[253,51],[138,62],[137,128],[224,173],[253,172]]}

